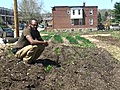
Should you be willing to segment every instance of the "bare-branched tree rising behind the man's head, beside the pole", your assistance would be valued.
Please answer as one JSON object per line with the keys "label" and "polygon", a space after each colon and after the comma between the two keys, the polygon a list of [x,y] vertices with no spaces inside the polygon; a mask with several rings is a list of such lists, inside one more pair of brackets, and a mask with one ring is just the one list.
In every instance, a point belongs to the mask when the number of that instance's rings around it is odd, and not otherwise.
{"label": "bare-branched tree rising behind the man's head, beside the pole", "polygon": [[43,5],[43,1],[38,2],[38,0],[21,0],[18,3],[19,16],[22,17],[24,21],[33,17],[41,19]]}

